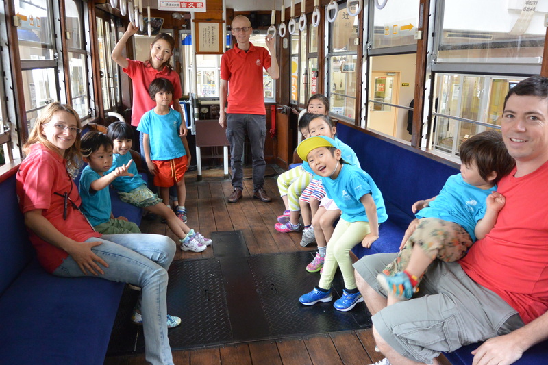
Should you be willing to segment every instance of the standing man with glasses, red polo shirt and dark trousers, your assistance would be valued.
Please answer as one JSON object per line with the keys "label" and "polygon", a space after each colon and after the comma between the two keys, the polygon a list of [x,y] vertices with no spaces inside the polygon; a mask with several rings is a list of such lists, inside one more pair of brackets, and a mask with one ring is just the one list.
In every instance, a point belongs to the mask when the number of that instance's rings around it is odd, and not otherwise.
{"label": "standing man with glasses, red polo shirt and dark trousers", "polygon": [[[262,89],[263,68],[270,77],[279,77],[275,40],[266,36],[266,47],[255,47],[249,42],[253,29],[249,19],[237,15],[232,21],[232,35],[238,41],[233,49],[221,58],[221,113],[219,124],[227,129],[232,166],[232,187],[228,198],[236,203],[242,197],[244,138],[247,131],[253,155],[253,197],[264,202],[271,201],[263,189],[264,185],[264,139],[266,138],[266,111]],[[270,55],[269,55],[270,51]],[[230,84],[230,93],[228,86]],[[228,108],[225,105],[228,96]]]}

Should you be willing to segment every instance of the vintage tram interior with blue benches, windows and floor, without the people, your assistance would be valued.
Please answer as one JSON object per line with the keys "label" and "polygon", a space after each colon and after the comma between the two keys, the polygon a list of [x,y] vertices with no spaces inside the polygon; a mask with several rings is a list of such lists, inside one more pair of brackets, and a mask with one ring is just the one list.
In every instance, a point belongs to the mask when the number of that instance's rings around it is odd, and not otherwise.
{"label": "vintage tram interior with blue benches, windows and floor, without the people", "polygon": [[[275,39],[279,78],[263,75],[268,204],[250,199],[249,141],[243,198],[227,203],[221,57],[236,42],[237,15],[251,21],[253,45]],[[384,195],[389,218],[377,246],[356,247],[353,255],[395,252],[412,203],[434,196],[458,173],[462,142],[501,129],[508,90],[530,75],[548,75],[547,16],[548,3],[535,0],[3,1],[0,363],[145,364],[142,327],[127,320],[138,292],[45,273],[15,194],[23,144],[47,105],[72,105],[84,131],[130,123],[132,79],[111,58],[130,23],[140,29],[125,58],[147,60],[160,32],[175,39],[171,64],[192,155],[188,225],[215,242],[202,253],[177,249],[169,270],[168,308],[183,320],[169,331],[175,364],[373,364],[383,356],[364,303],[347,313],[299,306],[299,293],[319,279],[303,270],[316,246],[301,247],[300,234],[273,229],[284,211],[276,177],[301,162],[299,113],[312,95],[325,95],[338,138]],[[145,171],[146,163],[138,167]],[[114,214],[144,233],[174,237],[159,217],[112,197]],[[516,364],[545,363],[542,345]],[[471,349],[439,360],[471,364]]]}

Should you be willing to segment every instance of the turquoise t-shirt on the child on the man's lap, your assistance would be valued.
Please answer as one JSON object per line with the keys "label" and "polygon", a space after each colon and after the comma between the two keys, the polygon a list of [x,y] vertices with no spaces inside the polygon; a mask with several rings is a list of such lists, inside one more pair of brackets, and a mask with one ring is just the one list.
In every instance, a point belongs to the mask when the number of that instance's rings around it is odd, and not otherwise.
{"label": "turquoise t-shirt on the child on the man's lap", "polygon": [[475,241],[477,240],[474,234],[475,225],[484,217],[485,201],[494,191],[497,191],[496,185],[490,189],[480,189],[464,181],[462,175],[452,175],[445,182],[438,197],[431,201],[428,207],[419,210],[415,216],[457,223],[466,229]]}

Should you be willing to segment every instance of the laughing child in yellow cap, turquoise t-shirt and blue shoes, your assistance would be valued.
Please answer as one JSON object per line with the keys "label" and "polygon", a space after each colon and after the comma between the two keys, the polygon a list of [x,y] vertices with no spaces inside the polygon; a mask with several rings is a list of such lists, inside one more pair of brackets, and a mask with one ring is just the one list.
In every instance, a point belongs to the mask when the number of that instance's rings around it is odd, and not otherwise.
{"label": "laughing child in yellow cap, turquoise t-shirt and blue shoes", "polygon": [[375,181],[361,168],[346,164],[337,146],[332,138],[314,136],[297,147],[299,157],[319,175],[327,195],[342,212],[327,244],[320,282],[299,301],[304,305],[332,301],[331,284],[338,266],[343,273],[345,289],[334,307],[347,312],[364,300],[354,279],[350,250],[357,242],[362,242],[363,247],[371,247],[379,238],[379,223],[386,221],[388,215]]}

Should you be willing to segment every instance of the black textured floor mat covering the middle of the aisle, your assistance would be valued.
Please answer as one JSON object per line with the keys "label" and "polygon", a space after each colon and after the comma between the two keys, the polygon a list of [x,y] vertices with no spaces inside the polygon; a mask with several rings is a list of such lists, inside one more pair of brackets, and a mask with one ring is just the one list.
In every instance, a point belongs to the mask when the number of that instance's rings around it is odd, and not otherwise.
{"label": "black textured floor mat covering the middle of the aisle", "polygon": [[[182,325],[169,330],[172,349],[371,327],[363,303],[345,313],[335,310],[333,301],[310,307],[299,303],[299,296],[320,279],[319,273],[305,270],[312,253],[250,256],[247,248],[242,249],[241,232],[212,236],[215,258],[176,261],[169,269],[168,312],[182,318]],[[337,273],[334,300],[343,287]],[[133,290],[124,292],[109,355],[145,349],[142,327],[129,320],[137,296]]]}

